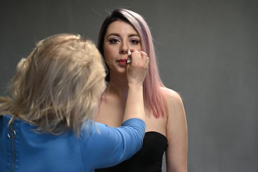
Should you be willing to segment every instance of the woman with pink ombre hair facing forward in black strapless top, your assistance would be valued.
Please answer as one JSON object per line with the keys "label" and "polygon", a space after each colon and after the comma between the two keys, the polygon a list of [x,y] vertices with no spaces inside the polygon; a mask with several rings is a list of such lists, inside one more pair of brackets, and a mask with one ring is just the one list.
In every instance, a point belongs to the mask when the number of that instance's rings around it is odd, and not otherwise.
{"label": "woman with pink ombre hair facing forward in black strapless top", "polygon": [[109,71],[98,122],[113,127],[122,123],[128,58],[147,56],[149,68],[143,83],[146,133],[142,149],[117,166],[95,172],[161,172],[165,151],[167,172],[187,172],[187,122],[182,99],[160,79],[152,36],[143,17],[127,9],[115,9],[102,24],[98,48]]}

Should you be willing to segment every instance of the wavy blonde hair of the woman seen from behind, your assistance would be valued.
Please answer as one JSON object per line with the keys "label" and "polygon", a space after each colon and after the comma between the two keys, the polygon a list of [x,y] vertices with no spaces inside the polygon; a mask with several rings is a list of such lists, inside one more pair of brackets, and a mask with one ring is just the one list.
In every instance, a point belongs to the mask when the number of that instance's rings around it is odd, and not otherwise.
{"label": "wavy blonde hair of the woman seen from behind", "polygon": [[105,76],[101,54],[90,40],[74,34],[50,36],[17,65],[12,98],[3,99],[0,114],[36,125],[37,131],[61,134],[71,129],[78,135],[96,113]]}

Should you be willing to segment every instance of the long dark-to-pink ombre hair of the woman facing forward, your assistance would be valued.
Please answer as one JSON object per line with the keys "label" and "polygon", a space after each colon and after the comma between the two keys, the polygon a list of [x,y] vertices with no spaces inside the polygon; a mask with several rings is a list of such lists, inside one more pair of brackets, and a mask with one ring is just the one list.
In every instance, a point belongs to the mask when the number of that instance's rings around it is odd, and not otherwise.
{"label": "long dark-to-pink ombre hair of the woman facing forward", "polygon": [[[127,9],[115,9],[103,22],[98,38],[98,49],[104,56],[103,42],[108,26],[117,20],[122,20],[134,27],[141,38],[142,51],[149,57],[149,70],[143,83],[143,99],[145,110],[156,118],[163,117],[168,113],[168,106],[160,87],[165,87],[160,79],[156,54],[152,42],[151,32],[143,17]],[[106,81],[109,81],[109,73]]]}

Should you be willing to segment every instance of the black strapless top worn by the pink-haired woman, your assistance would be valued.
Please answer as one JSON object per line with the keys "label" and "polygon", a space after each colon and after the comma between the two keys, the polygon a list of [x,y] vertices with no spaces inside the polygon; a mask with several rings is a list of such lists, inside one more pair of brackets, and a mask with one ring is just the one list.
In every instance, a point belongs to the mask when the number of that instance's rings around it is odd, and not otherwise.
{"label": "black strapless top worn by the pink-haired woman", "polygon": [[155,131],[146,132],[142,149],[130,159],[95,172],[162,172],[162,157],[168,146],[167,138]]}

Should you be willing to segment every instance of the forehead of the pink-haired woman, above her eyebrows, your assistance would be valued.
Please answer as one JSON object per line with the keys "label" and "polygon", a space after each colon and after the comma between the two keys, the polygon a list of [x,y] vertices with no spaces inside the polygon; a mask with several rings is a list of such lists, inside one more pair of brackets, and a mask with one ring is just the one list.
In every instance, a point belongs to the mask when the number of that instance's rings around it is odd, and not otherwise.
{"label": "forehead of the pink-haired woman, above her eyebrows", "polygon": [[137,31],[129,23],[117,20],[109,25],[107,35],[110,33],[137,34]]}

